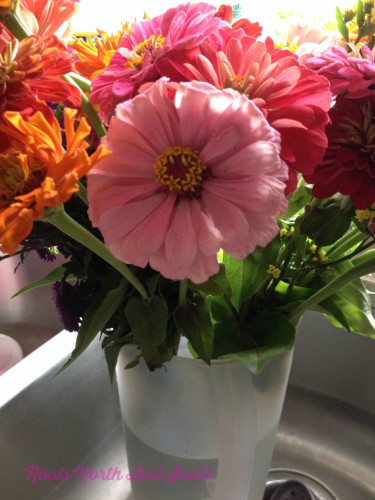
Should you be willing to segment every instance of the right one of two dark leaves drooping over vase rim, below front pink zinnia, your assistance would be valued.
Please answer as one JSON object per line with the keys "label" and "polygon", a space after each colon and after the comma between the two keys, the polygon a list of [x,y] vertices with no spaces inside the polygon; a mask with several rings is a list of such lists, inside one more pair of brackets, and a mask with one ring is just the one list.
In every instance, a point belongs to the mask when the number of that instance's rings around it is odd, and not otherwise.
{"label": "right one of two dark leaves drooping over vase rim, below front pink zinnia", "polygon": [[189,340],[198,356],[210,364],[214,330],[207,302],[197,296],[194,302],[179,305],[174,320],[178,331]]}

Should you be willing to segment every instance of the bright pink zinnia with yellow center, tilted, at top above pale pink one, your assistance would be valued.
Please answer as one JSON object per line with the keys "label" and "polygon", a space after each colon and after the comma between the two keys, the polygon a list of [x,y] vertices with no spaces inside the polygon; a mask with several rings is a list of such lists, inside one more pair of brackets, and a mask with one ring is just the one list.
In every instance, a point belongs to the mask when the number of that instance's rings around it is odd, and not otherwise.
{"label": "bright pink zinnia with yellow center, tilted, at top above pale pink one", "polygon": [[100,116],[108,123],[116,105],[134,97],[141,85],[154,82],[163,73],[165,58],[188,60],[188,54],[219,26],[215,7],[204,2],[183,4],[164,14],[134,23],[124,34],[108,68],[92,82],[91,101],[100,105]]}

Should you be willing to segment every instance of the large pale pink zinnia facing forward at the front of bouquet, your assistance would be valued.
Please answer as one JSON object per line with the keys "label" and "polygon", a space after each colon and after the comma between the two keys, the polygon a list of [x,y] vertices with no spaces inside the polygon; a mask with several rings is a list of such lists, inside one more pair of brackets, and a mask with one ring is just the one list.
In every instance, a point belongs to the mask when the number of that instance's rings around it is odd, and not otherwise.
{"label": "large pale pink zinnia facing forward at the front of bouquet", "polygon": [[171,94],[161,79],[117,107],[112,155],[88,174],[89,215],[119,259],[200,283],[220,248],[243,259],[275,237],[287,168],[245,96],[201,82]]}

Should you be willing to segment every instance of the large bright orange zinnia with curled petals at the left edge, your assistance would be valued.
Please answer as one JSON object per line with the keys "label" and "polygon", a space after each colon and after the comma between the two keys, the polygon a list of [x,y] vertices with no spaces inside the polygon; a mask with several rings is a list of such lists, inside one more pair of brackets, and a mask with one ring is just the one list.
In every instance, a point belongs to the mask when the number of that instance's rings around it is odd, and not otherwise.
{"label": "large bright orange zinnia with curled petals at the left edge", "polygon": [[[42,219],[46,207],[66,202],[79,189],[78,179],[99,159],[109,154],[103,146],[91,156],[85,141],[91,129],[82,118],[76,130],[76,110],[65,109],[66,152],[56,119],[49,123],[42,113],[28,121],[19,113],[7,112],[0,133],[8,147],[0,152],[0,245],[8,254]],[[4,142],[4,141],[3,141]]]}

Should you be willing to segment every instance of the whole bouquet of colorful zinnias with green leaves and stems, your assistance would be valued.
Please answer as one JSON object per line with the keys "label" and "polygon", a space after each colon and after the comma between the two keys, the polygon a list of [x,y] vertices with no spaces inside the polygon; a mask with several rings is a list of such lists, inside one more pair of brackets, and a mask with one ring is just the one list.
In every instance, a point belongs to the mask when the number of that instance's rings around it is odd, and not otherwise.
{"label": "whole bouquet of colorful zinnias with green leaves and stems", "polygon": [[375,338],[372,2],[293,39],[204,2],[79,36],[76,1],[0,5],[1,250],[58,257],[20,293],[53,285],[65,366],[100,333],[111,377],[181,339],[259,373],[307,310]]}

